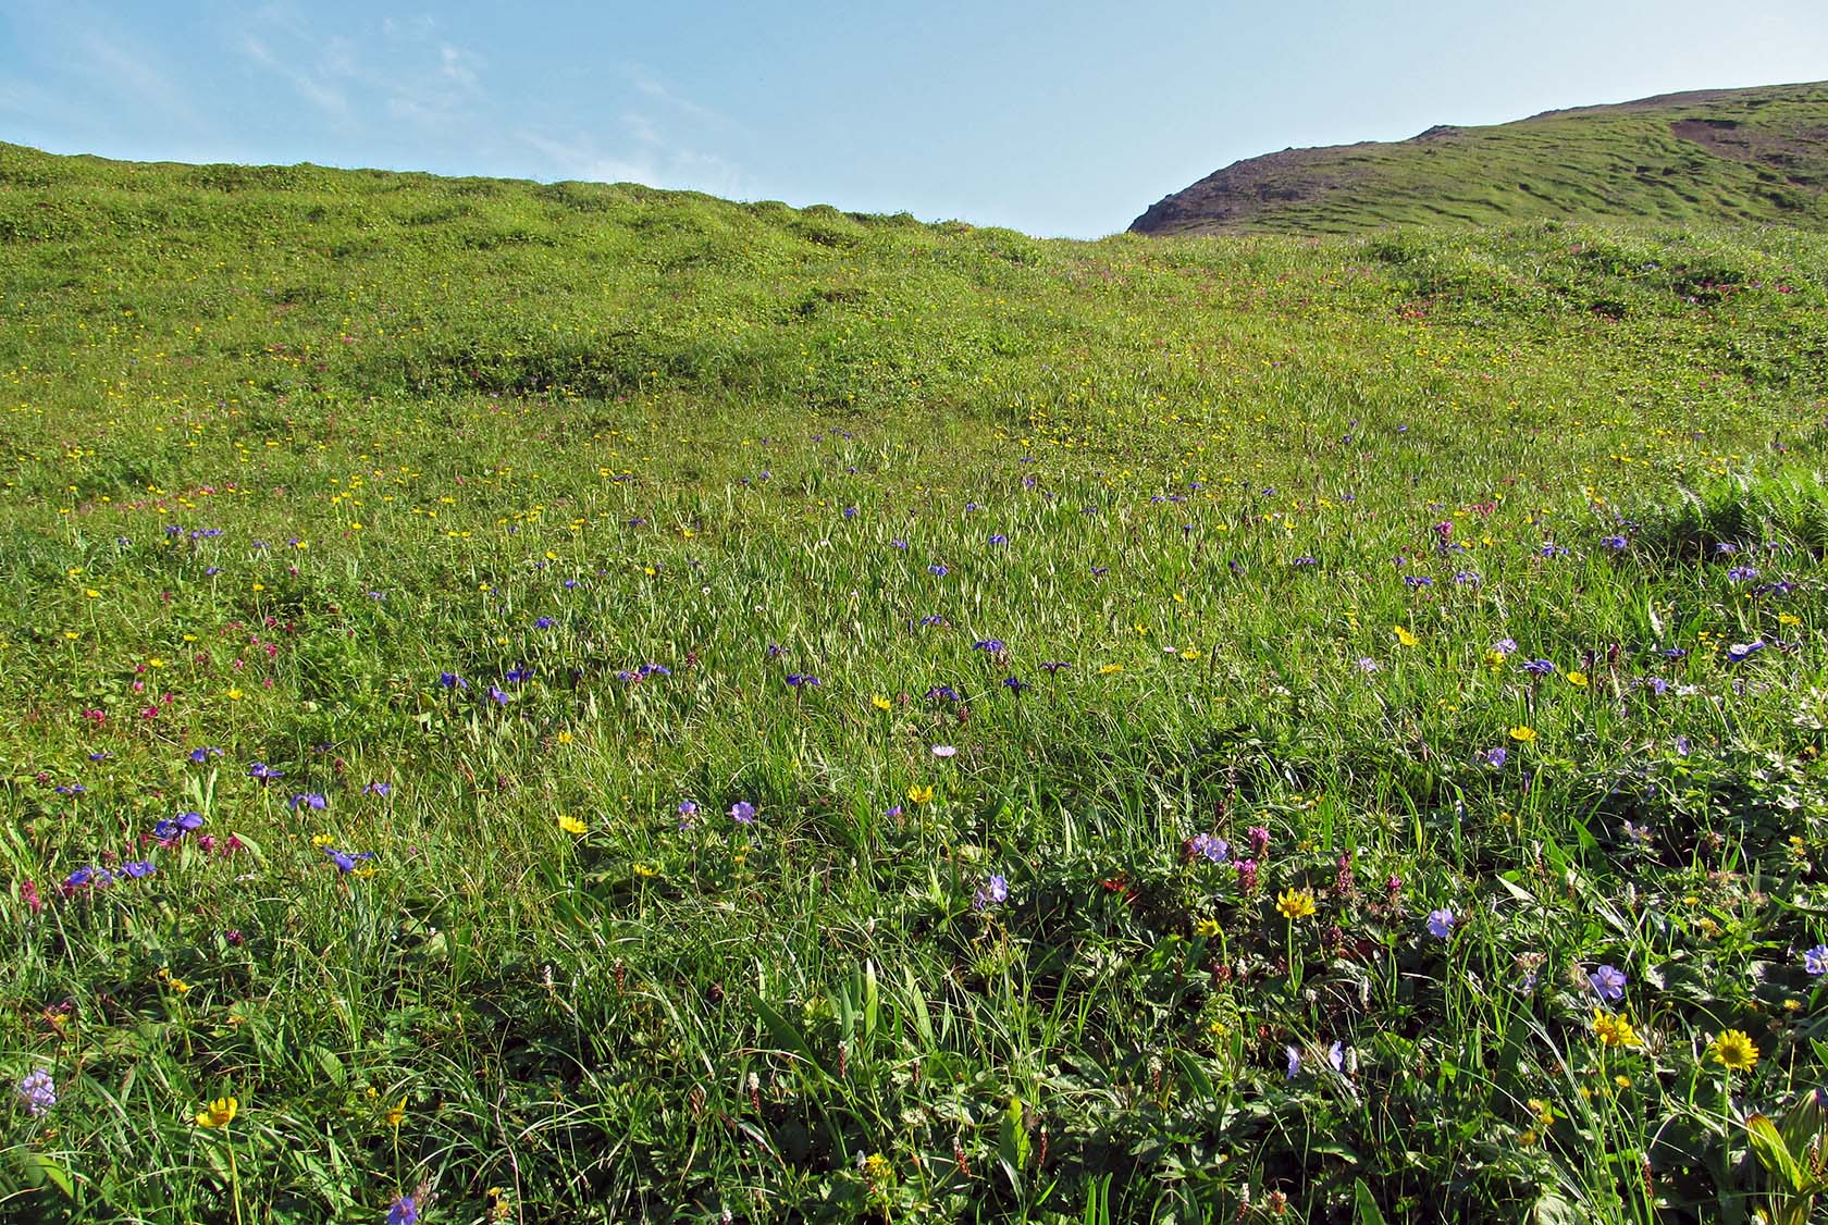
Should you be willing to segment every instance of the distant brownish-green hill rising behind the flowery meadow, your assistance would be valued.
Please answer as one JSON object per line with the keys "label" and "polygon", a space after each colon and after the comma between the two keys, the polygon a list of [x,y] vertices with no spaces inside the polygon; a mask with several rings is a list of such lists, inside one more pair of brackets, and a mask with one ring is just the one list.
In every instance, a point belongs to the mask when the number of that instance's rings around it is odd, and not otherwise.
{"label": "distant brownish-green hill rising behind the flowery meadow", "polygon": [[1545,112],[1397,143],[1252,157],[1168,196],[1141,234],[1351,234],[1528,218],[1828,229],[1828,82]]}

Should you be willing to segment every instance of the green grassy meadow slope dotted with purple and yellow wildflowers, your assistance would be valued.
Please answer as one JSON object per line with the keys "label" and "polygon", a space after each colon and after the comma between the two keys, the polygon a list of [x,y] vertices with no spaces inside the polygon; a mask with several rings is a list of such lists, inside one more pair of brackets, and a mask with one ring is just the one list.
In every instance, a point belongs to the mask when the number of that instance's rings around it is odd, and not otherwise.
{"label": "green grassy meadow slope dotted with purple and yellow wildflowers", "polygon": [[1808,1210],[1824,238],[0,146],[0,1216]]}

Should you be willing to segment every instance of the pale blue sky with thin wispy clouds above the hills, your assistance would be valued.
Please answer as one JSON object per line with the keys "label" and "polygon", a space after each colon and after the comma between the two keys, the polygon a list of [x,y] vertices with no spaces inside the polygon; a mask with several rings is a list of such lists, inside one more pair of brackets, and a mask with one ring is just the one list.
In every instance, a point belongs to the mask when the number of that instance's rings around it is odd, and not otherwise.
{"label": "pale blue sky with thin wispy clouds above the hills", "polygon": [[1823,0],[5,0],[0,139],[1095,238],[1254,154],[1828,79]]}

